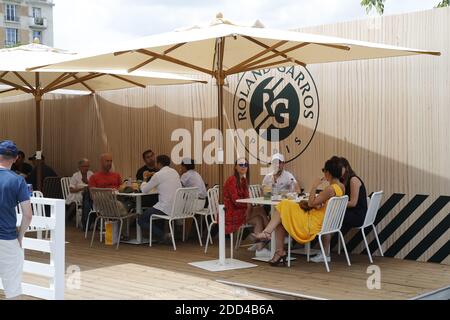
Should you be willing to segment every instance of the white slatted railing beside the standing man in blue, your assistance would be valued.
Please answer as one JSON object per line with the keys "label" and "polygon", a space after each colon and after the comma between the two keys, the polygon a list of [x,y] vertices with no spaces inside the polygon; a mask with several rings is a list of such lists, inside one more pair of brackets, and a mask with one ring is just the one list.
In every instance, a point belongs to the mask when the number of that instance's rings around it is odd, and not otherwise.
{"label": "white slatted railing beside the standing man in blue", "polygon": [[[64,300],[65,202],[60,199],[33,197],[31,203],[50,206],[50,217],[33,216],[30,225],[31,229],[50,230],[50,240],[29,238],[25,235],[22,246],[24,249],[50,253],[50,263],[29,261],[25,258],[23,272],[49,278],[50,286],[22,283],[23,294],[46,300]],[[21,221],[22,215],[18,214],[18,226]],[[1,282],[0,289],[3,289]]]}

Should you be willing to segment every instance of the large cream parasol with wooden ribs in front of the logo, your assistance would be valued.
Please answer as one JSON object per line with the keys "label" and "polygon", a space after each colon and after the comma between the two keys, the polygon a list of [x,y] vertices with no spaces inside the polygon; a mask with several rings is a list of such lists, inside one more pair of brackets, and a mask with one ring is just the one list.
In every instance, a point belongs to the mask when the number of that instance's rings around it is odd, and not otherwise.
{"label": "large cream parasol with wooden ribs in front of the logo", "polygon": [[[111,52],[42,65],[41,70],[108,68],[128,72],[208,74],[217,80],[218,125],[219,130],[223,131],[223,84],[229,75],[280,66],[420,54],[440,55],[435,51],[269,29],[259,21],[251,27],[240,26],[224,19],[219,13],[205,27],[194,26],[140,38],[119,45]],[[222,146],[219,147],[222,150]],[[222,154],[219,158],[223,158],[223,153],[219,154]],[[219,185],[223,185],[223,170],[219,170]]]}

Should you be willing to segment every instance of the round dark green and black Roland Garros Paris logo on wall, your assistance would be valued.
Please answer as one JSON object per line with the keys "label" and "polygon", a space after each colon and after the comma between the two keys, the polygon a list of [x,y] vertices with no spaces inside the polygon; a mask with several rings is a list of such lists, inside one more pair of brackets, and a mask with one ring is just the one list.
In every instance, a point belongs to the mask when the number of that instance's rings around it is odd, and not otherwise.
{"label": "round dark green and black Roland Garros Paris logo on wall", "polygon": [[[276,151],[290,162],[308,148],[319,123],[314,79],[301,66],[246,72],[234,94],[233,118],[236,129],[254,129],[260,138],[278,142]],[[256,143],[255,139],[239,141],[247,152]],[[264,162],[258,154],[251,155]]]}

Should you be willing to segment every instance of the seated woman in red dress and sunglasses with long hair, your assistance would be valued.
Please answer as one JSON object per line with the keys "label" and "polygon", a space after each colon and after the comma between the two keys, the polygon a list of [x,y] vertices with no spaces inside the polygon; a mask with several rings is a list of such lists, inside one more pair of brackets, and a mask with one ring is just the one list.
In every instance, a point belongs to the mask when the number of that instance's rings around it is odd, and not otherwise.
{"label": "seated woman in red dress and sunglasses with long hair", "polygon": [[[250,204],[239,203],[236,200],[249,198],[248,183],[250,181],[249,164],[245,158],[237,159],[234,166],[234,175],[229,177],[223,188],[225,204],[225,233],[233,233],[240,226],[248,223],[254,226],[254,232],[261,232],[268,223],[266,213],[261,207],[252,207]],[[263,243],[256,246],[256,255],[264,255]]]}

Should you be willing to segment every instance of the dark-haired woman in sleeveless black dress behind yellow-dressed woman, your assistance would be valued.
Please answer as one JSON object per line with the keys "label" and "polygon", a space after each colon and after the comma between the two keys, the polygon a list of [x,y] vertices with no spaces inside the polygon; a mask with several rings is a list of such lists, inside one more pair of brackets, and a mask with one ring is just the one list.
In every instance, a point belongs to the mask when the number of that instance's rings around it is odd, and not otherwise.
{"label": "dark-haired woman in sleeveless black dress behind yellow-dressed woman", "polygon": [[364,223],[367,213],[367,192],[364,182],[353,171],[347,159],[341,158],[344,168],[341,182],[348,195],[347,211],[344,217],[344,228],[360,227]]}

